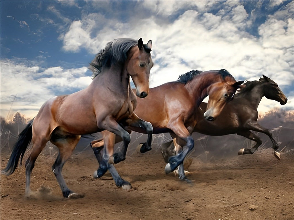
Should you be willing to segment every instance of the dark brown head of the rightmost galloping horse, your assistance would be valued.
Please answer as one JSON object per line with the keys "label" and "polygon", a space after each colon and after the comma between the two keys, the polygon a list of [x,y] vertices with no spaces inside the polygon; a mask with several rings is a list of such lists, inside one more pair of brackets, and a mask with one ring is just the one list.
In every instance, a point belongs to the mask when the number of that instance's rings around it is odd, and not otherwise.
{"label": "dark brown head of the rightmost galloping horse", "polygon": [[263,93],[267,99],[272,99],[280,102],[281,105],[285,105],[288,101],[285,94],[279,88],[278,84],[276,84],[272,79],[262,75],[263,78],[260,78],[260,82],[264,82],[263,84]]}

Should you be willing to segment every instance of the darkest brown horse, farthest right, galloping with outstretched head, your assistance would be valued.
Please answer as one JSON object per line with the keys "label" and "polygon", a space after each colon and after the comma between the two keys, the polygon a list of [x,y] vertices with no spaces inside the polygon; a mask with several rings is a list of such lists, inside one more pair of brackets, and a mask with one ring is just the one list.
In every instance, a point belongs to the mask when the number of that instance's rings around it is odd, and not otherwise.
{"label": "darkest brown horse, farthest right, galloping with outstretched head", "polygon": [[[259,81],[247,81],[241,85],[241,88],[235,94],[234,99],[225,105],[223,111],[220,112],[220,115],[214,121],[203,119],[202,115],[205,112],[207,103],[202,102],[200,107],[196,109],[197,124],[194,126],[192,132],[211,136],[238,134],[256,142],[251,149],[240,149],[238,152],[239,155],[253,154],[260,147],[262,144],[261,139],[251,131],[261,132],[270,138],[273,143],[272,148],[274,149],[274,155],[280,160],[280,153],[278,150],[279,144],[273,138],[271,132],[257,122],[257,107],[263,97],[278,101],[281,105],[287,103],[287,98],[278,87],[278,84],[269,77],[263,75],[263,78],[260,78]],[[164,143],[162,145],[162,154],[165,161],[168,160],[169,156],[174,155],[175,153],[173,150],[174,148],[169,148],[171,143],[174,143],[176,151],[181,149],[181,146],[184,146],[185,144],[179,138]],[[179,175],[184,175],[182,170],[181,172],[182,173],[179,173]]]}

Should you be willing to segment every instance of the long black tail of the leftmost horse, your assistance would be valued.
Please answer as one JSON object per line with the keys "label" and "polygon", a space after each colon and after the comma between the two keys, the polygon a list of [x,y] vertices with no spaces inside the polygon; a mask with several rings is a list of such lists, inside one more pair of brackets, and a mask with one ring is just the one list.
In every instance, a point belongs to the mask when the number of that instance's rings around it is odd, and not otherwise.
{"label": "long black tail of the leftmost horse", "polygon": [[33,121],[32,119],[29,124],[24,128],[24,130],[19,134],[18,139],[16,143],[13,146],[12,153],[10,155],[10,158],[8,160],[8,163],[6,165],[6,168],[1,170],[1,173],[8,176],[12,174],[19,162],[20,159],[20,165],[22,162],[22,158],[24,157],[24,153],[26,152],[26,148],[29,146],[33,132],[32,132],[32,126],[33,126]]}

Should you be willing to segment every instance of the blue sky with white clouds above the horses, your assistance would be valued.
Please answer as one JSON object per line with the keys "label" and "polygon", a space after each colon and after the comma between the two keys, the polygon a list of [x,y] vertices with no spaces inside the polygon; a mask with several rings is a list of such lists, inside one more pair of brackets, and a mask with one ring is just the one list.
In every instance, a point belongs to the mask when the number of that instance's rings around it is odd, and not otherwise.
{"label": "blue sky with white clouds above the horses", "polygon": [[[292,1],[1,1],[1,116],[34,117],[91,83],[88,63],[115,38],[152,40],[150,87],[192,69],[262,74],[294,109]],[[281,107],[263,98],[259,111]]]}

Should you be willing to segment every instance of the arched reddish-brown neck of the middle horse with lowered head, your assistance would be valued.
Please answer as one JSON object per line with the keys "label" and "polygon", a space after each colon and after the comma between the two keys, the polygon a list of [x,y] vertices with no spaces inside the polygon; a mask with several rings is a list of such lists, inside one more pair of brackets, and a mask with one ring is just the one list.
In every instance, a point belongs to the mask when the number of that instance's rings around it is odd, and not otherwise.
{"label": "arched reddish-brown neck of the middle horse with lowered head", "polygon": [[198,107],[203,99],[208,96],[209,87],[211,84],[219,82],[220,77],[216,76],[215,73],[212,73],[213,76],[210,77],[208,74],[200,74],[194,77],[190,82],[186,84],[186,88],[192,99],[195,100],[196,105]]}

